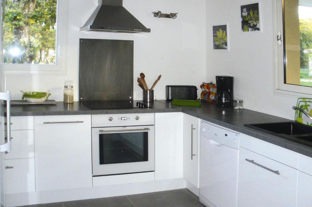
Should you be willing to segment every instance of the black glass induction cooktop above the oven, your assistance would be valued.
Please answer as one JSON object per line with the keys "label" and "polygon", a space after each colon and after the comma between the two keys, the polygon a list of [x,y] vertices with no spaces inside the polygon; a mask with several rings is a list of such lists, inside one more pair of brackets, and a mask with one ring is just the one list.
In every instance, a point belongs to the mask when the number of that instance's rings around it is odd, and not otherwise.
{"label": "black glass induction cooktop above the oven", "polygon": [[90,109],[152,108],[147,102],[138,101],[84,101],[82,104]]}

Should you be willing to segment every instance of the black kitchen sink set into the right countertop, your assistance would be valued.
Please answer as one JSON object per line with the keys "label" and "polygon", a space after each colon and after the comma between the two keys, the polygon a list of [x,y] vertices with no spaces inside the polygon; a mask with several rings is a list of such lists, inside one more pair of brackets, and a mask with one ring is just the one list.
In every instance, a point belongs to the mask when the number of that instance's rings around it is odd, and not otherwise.
{"label": "black kitchen sink set into the right countertop", "polygon": [[312,127],[299,122],[271,122],[244,124],[244,126],[312,146]]}

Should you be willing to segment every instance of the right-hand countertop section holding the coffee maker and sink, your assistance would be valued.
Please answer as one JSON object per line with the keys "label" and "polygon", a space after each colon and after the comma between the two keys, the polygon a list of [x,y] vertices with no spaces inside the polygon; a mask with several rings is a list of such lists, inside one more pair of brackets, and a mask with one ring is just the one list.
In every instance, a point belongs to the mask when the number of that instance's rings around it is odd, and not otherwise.
{"label": "right-hand countertop section holding the coffee maker and sink", "polygon": [[[170,101],[159,100],[162,103],[171,105]],[[300,143],[297,143],[286,138],[272,135],[264,131],[259,131],[249,127],[245,127],[244,124],[252,123],[267,123],[267,122],[289,122],[293,120],[272,116],[265,113],[260,113],[248,109],[236,110],[234,108],[222,108],[217,107],[216,104],[210,102],[201,102],[201,106],[178,106],[182,109],[183,113],[200,118],[202,120],[212,122],[214,124],[232,129],[234,131],[256,137],[260,140],[278,145],[280,147],[286,148],[304,154],[306,156],[312,157],[312,148]],[[290,108],[290,113],[293,110]]]}

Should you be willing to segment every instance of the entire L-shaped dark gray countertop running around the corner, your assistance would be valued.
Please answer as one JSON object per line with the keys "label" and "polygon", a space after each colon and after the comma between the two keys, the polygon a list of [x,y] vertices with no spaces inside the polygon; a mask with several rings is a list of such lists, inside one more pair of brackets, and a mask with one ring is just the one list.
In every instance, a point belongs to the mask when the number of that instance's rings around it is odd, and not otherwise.
{"label": "entire L-shaped dark gray countertop running around the corner", "polygon": [[[126,109],[89,109],[79,102],[56,105],[12,105],[12,116],[51,116],[51,115],[85,115],[85,114],[122,114],[122,113],[167,113],[183,112],[202,120],[232,129],[234,131],[256,137],[274,145],[312,157],[312,148],[292,140],[258,131],[244,124],[266,122],[292,121],[281,117],[272,116],[248,109],[235,110],[234,108],[220,108],[216,104],[202,102],[200,107],[173,106],[170,101],[158,100],[149,103],[153,108],[126,108]],[[290,113],[291,113],[290,109]]]}

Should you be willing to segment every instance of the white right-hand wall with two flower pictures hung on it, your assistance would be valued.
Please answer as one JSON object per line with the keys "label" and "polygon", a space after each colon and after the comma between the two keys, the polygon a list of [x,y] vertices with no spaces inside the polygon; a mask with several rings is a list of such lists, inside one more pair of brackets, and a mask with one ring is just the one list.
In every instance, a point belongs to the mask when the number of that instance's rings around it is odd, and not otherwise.
{"label": "white right-hand wall with two flower pictures hung on it", "polygon": [[[217,75],[234,76],[234,99],[244,108],[294,119],[295,96],[274,94],[273,0],[260,2],[260,33],[241,32],[240,6],[250,0],[206,1],[207,81]],[[212,49],[212,25],[228,24],[229,51]]]}

